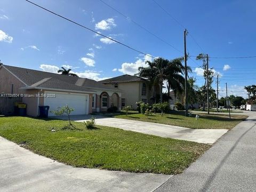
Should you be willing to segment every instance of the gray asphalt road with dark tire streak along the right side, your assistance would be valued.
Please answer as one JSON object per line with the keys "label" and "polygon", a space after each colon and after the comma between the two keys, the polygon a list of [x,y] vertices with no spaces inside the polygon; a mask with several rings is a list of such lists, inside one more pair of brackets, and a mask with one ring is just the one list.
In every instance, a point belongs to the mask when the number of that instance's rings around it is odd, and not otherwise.
{"label": "gray asphalt road with dark tire streak along the right side", "polygon": [[256,112],[156,191],[256,191]]}

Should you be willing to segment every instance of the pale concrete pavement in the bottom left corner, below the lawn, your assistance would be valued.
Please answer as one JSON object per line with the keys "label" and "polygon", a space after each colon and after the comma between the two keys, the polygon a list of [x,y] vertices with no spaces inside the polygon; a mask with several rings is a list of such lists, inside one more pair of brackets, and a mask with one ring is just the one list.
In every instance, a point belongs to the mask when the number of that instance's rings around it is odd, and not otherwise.
{"label": "pale concrete pavement in the bottom left corner, below the lawn", "polygon": [[0,191],[153,191],[171,175],[75,168],[0,137]]}

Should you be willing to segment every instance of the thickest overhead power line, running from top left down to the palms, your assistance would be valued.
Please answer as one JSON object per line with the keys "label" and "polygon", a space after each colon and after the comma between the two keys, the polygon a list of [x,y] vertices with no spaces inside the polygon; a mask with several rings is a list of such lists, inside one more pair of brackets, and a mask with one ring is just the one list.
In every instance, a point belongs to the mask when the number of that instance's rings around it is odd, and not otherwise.
{"label": "thickest overhead power line, running from top left down to the palms", "polygon": [[147,55],[147,56],[149,56],[149,57],[151,57],[151,58],[156,59],[155,57],[153,57],[153,56],[150,55],[150,54],[147,54],[147,53],[144,53],[144,52],[139,51],[139,50],[137,50],[137,49],[134,49],[133,47],[131,47],[131,46],[129,46],[129,45],[126,45],[126,44],[121,43],[121,42],[119,42],[119,41],[117,41],[117,40],[115,40],[115,39],[112,39],[112,38],[110,38],[110,37],[108,37],[108,36],[106,36],[106,35],[103,35],[103,34],[101,34],[101,33],[98,33],[97,31],[95,31],[95,30],[93,30],[93,29],[90,29],[90,28],[88,28],[88,27],[85,27],[85,26],[83,26],[83,25],[81,25],[81,24],[79,24],[79,23],[77,23],[77,22],[75,22],[75,21],[73,21],[73,20],[71,20],[71,19],[68,19],[68,18],[66,18],[66,17],[63,17],[62,15],[60,15],[60,14],[58,14],[58,13],[55,13],[55,12],[53,12],[53,11],[50,11],[50,10],[46,9],[45,7],[42,7],[42,6],[40,6],[40,5],[36,4],[36,3],[30,2],[30,1],[28,1],[28,0],[25,0],[25,1],[27,1],[28,3],[31,3],[31,4],[33,4],[33,5],[37,6],[37,7],[39,7],[39,8],[41,8],[41,9],[45,10],[45,11],[47,11],[47,12],[50,12],[50,13],[52,13],[52,14],[54,14],[54,15],[57,15],[58,17],[60,17],[60,18],[62,18],[62,19],[65,19],[65,20],[67,20],[67,21],[69,21],[69,22],[72,22],[72,23],[74,23],[75,25],[78,25],[78,26],[83,27],[83,28],[85,28],[85,29],[87,29],[87,30],[90,30],[90,31],[92,31],[93,33],[95,33],[95,34],[97,34],[97,35],[100,35],[100,36],[102,36],[102,37],[105,37],[105,38],[107,38],[107,39],[109,39],[109,40],[111,40],[111,41],[114,41],[114,42],[116,42],[116,43],[118,43],[118,44],[121,44],[121,45],[123,45],[123,46],[126,46],[127,48],[129,48],[129,49],[131,49],[131,50],[133,50],[133,51],[136,51],[136,52],[138,52],[138,53],[141,53],[141,54],[144,54],[144,55]]}

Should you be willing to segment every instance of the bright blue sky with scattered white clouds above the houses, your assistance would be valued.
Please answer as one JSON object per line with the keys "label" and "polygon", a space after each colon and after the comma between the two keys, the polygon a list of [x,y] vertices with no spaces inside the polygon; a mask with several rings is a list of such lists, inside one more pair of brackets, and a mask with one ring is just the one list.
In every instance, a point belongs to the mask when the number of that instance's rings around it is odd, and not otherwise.
{"label": "bright blue sky with scattered white clouds above the houses", "polygon": [[[243,95],[243,87],[256,84],[254,61],[250,59],[214,59],[255,53],[256,2],[249,1],[167,1],[103,0],[125,14],[122,17],[99,0],[31,0],[82,25],[117,39],[154,57],[174,59],[183,54],[183,27],[190,55],[201,52],[210,56],[209,66],[220,74],[220,90]],[[160,41],[131,21],[139,23],[173,47]],[[199,46],[202,48],[200,48]],[[65,65],[81,77],[100,80],[136,73],[150,59],[117,43],[95,36],[86,29],[47,13],[25,0],[0,1],[0,59],[6,65],[56,71]],[[179,50],[179,51],[177,51]],[[201,63],[188,60],[197,84],[203,79]],[[226,65],[226,67],[225,67]],[[225,67],[226,70],[223,70]],[[217,86],[214,82],[213,86]],[[220,95],[225,95],[221,91]]]}

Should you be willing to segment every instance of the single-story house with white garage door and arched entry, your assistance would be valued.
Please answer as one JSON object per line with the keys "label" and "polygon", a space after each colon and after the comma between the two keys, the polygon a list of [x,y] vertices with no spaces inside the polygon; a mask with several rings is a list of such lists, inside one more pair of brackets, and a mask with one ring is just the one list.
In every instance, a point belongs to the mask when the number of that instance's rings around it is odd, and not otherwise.
{"label": "single-story house with white garage door and arched entry", "polygon": [[[65,105],[74,108],[73,115],[107,111],[111,106],[121,110],[122,91],[113,86],[87,78],[7,65],[0,66],[1,93],[23,94],[21,99],[27,104],[30,116],[39,115],[38,106],[50,106],[49,116],[54,115],[51,110]],[[55,97],[51,97],[53,95]]]}

